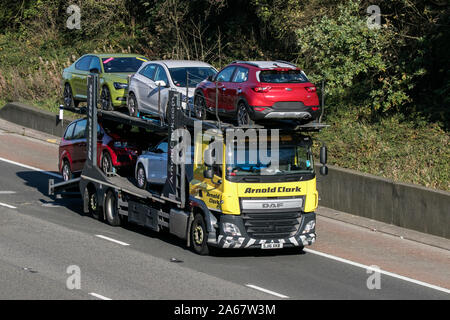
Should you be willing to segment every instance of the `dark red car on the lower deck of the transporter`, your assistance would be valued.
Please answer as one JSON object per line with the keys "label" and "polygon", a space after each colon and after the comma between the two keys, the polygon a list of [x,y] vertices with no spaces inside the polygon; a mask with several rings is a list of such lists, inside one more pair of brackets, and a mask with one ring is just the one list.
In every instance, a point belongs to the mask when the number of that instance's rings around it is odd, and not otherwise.
{"label": "dark red car on the lower deck of the transporter", "polygon": [[[83,170],[86,161],[86,119],[75,120],[67,126],[59,145],[59,171],[64,181]],[[131,128],[116,123],[100,123],[97,126],[97,165],[104,172],[119,168],[134,168],[141,153],[137,144],[129,145]],[[137,133],[136,133],[137,136]],[[125,139],[127,138],[127,139]]]}

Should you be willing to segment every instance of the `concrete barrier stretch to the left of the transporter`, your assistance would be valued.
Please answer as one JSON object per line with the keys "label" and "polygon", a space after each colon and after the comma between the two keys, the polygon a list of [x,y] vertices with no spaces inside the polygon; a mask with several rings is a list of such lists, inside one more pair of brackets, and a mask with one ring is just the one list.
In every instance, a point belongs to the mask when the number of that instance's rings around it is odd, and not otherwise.
{"label": "concrete barrier stretch to the left of the transporter", "polygon": [[39,110],[19,102],[6,104],[0,109],[0,118],[21,126],[61,137],[70,120],[60,121],[54,113]]}

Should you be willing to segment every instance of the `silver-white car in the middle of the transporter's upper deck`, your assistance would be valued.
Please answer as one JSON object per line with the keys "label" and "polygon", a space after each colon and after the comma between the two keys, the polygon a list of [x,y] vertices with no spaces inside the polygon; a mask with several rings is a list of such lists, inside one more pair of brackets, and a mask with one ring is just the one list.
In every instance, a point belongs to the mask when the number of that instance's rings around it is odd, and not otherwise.
{"label": "silver-white car in the middle of the transporter's upper deck", "polygon": [[[184,101],[182,107],[185,109],[192,104],[196,85],[216,73],[217,70],[213,66],[200,61],[161,60],[143,63],[130,78],[128,111],[131,116],[142,113],[167,118],[170,89],[181,92]],[[189,81],[188,84],[186,80]],[[186,91],[188,91],[187,105]]]}

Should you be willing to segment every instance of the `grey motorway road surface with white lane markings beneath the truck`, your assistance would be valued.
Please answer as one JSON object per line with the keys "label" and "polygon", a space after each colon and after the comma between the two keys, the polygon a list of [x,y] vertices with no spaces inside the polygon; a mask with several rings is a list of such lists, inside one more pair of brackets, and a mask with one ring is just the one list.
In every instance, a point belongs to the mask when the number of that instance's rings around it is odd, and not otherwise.
{"label": "grey motorway road surface with white lane markings beneath the truck", "polygon": [[[369,290],[371,274],[365,268],[314,251],[228,251],[203,257],[168,234],[111,227],[85,216],[79,199],[48,197],[48,174],[4,161],[55,169],[55,161],[48,160],[55,147],[0,132],[0,299],[450,298],[448,291],[386,274],[381,274],[380,289]],[[313,250],[450,287],[447,250],[399,244],[325,218],[318,219],[318,233]],[[72,265],[81,271],[79,290],[66,286]]]}

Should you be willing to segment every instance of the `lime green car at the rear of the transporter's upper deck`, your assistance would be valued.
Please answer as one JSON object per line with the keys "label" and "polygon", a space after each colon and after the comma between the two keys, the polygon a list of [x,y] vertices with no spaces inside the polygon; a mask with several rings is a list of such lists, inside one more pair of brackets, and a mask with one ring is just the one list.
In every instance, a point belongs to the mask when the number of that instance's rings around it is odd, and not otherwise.
{"label": "lime green car at the rear of the transporter's upper deck", "polygon": [[86,54],[63,71],[64,105],[78,107],[87,99],[87,76],[99,74],[102,109],[126,106],[128,75],[148,59],[137,54]]}

